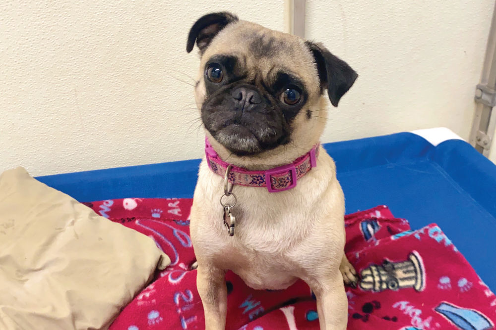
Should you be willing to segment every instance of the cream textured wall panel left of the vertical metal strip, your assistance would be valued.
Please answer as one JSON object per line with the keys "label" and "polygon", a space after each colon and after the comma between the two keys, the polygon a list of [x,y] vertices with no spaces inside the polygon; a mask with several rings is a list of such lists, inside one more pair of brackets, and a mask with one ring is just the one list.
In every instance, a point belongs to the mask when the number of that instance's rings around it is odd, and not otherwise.
{"label": "cream textured wall panel left of the vertical metal strip", "polygon": [[199,158],[194,21],[230,10],[284,29],[282,1],[0,2],[0,172]]}

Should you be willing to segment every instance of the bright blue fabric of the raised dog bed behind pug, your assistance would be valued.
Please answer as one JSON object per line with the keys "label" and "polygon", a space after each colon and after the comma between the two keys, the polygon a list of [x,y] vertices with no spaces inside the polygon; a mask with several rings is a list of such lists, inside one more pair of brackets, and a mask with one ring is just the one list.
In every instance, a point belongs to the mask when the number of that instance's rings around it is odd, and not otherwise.
{"label": "bright blue fabric of the raised dog bed behind pug", "polygon": [[[412,229],[437,223],[496,290],[496,166],[470,144],[434,147],[411,133],[324,144],[346,212],[387,205]],[[192,197],[200,160],[38,177],[79,201]]]}

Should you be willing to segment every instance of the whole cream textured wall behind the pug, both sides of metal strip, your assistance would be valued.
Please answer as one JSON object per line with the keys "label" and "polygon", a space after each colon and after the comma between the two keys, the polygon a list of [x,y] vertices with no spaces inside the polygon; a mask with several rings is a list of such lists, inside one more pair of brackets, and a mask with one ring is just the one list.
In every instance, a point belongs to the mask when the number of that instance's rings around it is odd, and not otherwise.
{"label": "whole cream textured wall behind the pug, both sides of metal strip", "polygon": [[[467,138],[492,9],[492,0],[308,0],[308,37],[360,74],[322,141],[434,126]],[[196,75],[186,35],[214,10],[287,27],[283,1],[2,1],[0,171],[200,157],[193,89],[173,77]]]}

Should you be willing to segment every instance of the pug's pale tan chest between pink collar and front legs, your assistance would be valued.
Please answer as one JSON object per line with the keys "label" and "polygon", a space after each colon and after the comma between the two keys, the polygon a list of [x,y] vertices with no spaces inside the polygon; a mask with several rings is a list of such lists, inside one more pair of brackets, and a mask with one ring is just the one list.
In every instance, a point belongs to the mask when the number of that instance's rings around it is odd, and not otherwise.
{"label": "pug's pale tan chest between pink collar and front legs", "polygon": [[[219,203],[223,180],[202,163],[191,211],[191,238],[198,258],[219,269],[232,270],[255,289],[288,287],[317,262],[327,262],[333,254],[329,242],[344,236],[344,228],[340,230],[344,207],[339,185],[326,173],[321,166],[319,172],[310,172],[299,181],[295,189],[280,193],[234,187],[237,204],[232,212],[236,226],[234,236],[229,236]],[[335,189],[328,189],[331,184]],[[333,193],[328,195],[327,191]],[[338,206],[336,211],[330,212],[334,205]],[[341,224],[337,223],[339,217],[330,213],[341,214]],[[324,245],[326,249],[321,248]],[[325,253],[309,256],[309,251]]]}

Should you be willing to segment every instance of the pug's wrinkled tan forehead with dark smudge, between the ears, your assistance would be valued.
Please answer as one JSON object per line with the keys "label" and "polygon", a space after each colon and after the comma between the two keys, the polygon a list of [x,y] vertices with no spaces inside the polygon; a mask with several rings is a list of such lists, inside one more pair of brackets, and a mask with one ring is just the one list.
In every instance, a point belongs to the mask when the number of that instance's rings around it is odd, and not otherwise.
{"label": "pug's wrinkled tan forehead with dark smudge, between the ears", "polygon": [[270,30],[258,24],[237,21],[220,31],[205,49],[201,67],[213,58],[229,57],[246,79],[271,84],[277,74],[286,73],[302,81],[307,92],[319,94],[317,69],[305,42],[296,36]]}

